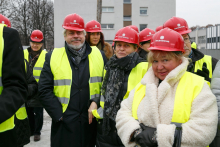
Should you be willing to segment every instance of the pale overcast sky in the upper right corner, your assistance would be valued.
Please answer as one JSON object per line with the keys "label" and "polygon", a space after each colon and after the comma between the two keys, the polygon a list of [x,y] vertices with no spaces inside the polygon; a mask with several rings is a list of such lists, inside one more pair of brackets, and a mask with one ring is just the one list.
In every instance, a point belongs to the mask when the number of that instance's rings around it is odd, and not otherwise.
{"label": "pale overcast sky in the upper right corner", "polygon": [[176,16],[189,27],[220,24],[220,0],[176,0]]}

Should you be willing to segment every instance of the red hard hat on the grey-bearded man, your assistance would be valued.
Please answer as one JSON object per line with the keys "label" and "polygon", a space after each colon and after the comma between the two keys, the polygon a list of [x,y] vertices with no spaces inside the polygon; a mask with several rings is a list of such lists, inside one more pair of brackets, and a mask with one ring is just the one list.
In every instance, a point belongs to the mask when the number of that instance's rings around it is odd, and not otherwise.
{"label": "red hard hat on the grey-bearded man", "polygon": [[63,21],[63,28],[67,30],[83,31],[84,30],[84,20],[78,14],[69,14],[65,17]]}

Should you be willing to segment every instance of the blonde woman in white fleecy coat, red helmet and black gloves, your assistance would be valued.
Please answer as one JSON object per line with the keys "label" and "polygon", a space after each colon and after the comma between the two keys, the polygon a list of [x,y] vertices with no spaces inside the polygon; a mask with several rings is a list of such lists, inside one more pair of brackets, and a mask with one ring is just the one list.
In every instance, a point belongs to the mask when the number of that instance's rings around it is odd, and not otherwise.
{"label": "blonde woman in white fleecy coat, red helmet and black gloves", "polygon": [[141,83],[122,101],[116,116],[118,135],[126,147],[206,147],[215,137],[217,104],[202,77],[186,71],[181,35],[157,32]]}

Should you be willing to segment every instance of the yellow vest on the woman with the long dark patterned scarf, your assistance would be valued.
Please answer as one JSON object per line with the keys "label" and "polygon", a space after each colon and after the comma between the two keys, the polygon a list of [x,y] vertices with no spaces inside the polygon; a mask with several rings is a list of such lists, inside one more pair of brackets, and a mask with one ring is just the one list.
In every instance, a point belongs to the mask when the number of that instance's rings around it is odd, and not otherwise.
{"label": "yellow vest on the woman with the long dark patterned scarf", "polygon": [[[141,62],[136,67],[134,67],[128,77],[128,85],[127,85],[127,92],[123,99],[128,98],[129,93],[132,89],[135,88],[135,86],[141,81],[141,79],[144,77],[145,73],[148,69],[148,62]],[[103,110],[104,110],[104,96],[101,95],[100,99],[100,106],[98,110],[92,110],[93,115],[97,119],[103,118]]]}

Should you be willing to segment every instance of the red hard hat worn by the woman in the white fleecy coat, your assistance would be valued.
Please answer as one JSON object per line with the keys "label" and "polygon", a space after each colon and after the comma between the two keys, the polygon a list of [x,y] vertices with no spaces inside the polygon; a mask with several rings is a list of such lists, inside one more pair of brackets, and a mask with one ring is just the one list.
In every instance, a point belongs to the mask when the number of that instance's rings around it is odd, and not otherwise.
{"label": "red hard hat worn by the woman in the white fleecy coat", "polygon": [[165,28],[154,34],[149,50],[181,51],[184,53],[184,40],[176,31]]}

